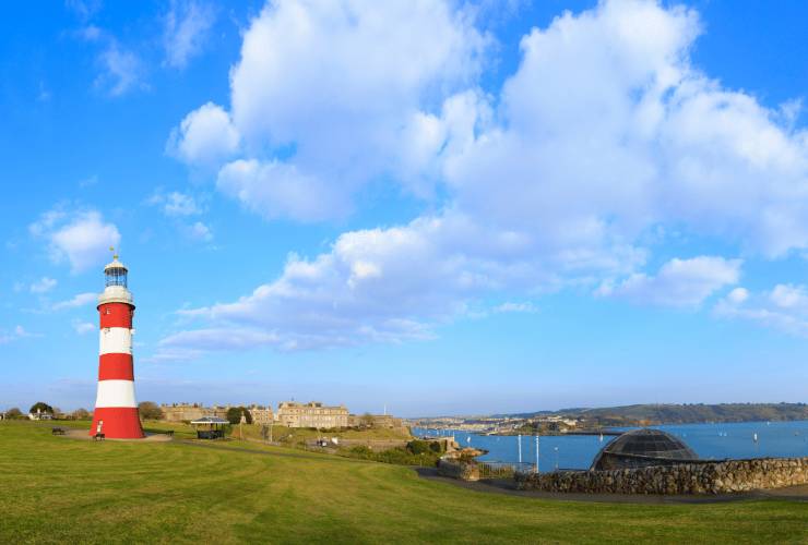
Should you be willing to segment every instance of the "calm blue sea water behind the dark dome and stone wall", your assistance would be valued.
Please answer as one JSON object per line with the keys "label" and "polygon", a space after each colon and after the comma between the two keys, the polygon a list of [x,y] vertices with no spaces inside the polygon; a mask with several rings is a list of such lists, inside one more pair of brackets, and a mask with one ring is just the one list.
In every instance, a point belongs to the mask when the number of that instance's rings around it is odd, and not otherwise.
{"label": "calm blue sea water behind the dark dome and stone wall", "polygon": [[[808,456],[808,421],[742,422],[734,424],[680,424],[652,426],[681,438],[699,458],[763,458]],[[629,428],[618,428],[629,429]],[[467,432],[447,432],[414,428],[421,435],[452,435],[462,446],[488,450],[480,460],[519,461],[519,438],[515,436],[477,435]],[[753,440],[758,434],[758,441]],[[539,437],[539,470],[589,469],[595,455],[614,436],[569,435]],[[522,436],[522,461],[536,462],[536,438]]]}

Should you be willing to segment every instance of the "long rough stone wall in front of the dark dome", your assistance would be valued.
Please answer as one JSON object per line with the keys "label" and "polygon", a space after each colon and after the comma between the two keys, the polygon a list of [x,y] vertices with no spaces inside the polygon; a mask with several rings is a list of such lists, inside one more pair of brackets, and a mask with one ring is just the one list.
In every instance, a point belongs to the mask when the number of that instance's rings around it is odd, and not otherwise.
{"label": "long rough stone wall in front of the dark dome", "polygon": [[515,476],[516,487],[596,494],[726,494],[808,484],[808,458],[758,458]]}

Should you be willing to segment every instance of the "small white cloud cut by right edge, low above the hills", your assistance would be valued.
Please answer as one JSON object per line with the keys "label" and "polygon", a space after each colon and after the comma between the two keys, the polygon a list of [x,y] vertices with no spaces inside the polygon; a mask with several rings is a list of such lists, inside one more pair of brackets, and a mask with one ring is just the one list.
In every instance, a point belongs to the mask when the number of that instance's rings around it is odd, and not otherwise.
{"label": "small white cloud cut by right edge, low above the hills", "polygon": [[739,289],[715,304],[716,316],[746,319],[788,335],[808,337],[808,287],[781,283],[757,294],[747,290],[738,294]]}

